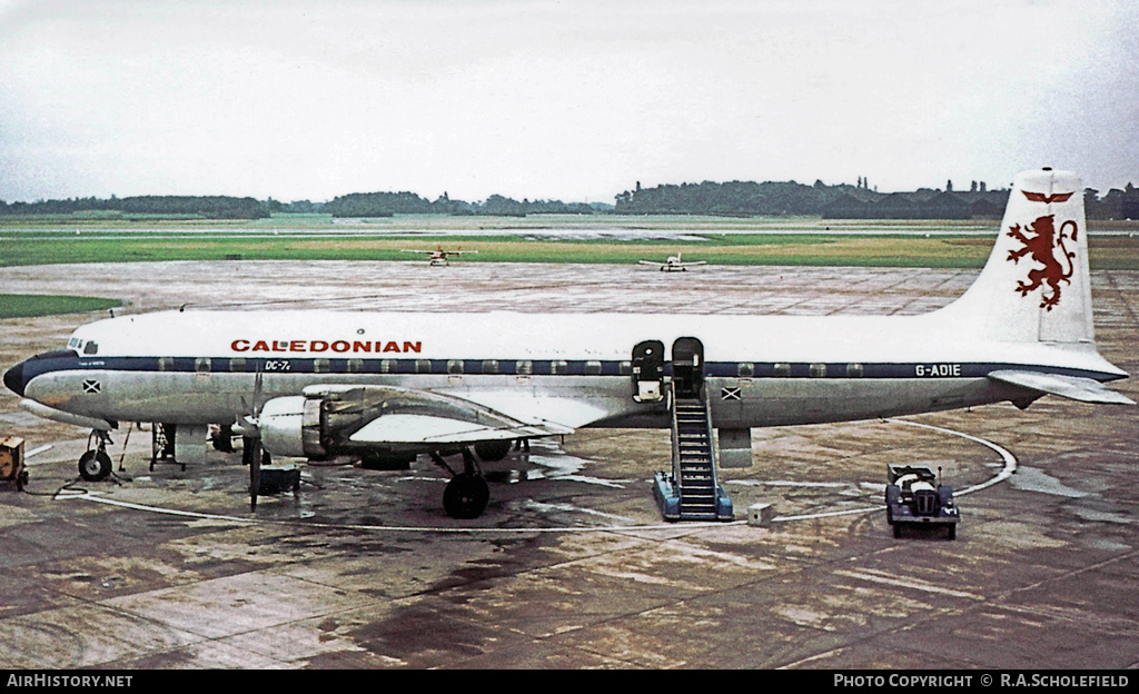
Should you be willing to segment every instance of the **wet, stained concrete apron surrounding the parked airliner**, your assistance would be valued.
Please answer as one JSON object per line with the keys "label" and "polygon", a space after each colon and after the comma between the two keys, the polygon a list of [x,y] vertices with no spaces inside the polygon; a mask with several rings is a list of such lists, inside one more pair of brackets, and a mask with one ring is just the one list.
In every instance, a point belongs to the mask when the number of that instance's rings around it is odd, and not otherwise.
{"label": "wet, stained concrete apron surrounding the parked airliner", "polygon": [[[944,305],[974,276],[233,261],[9,268],[0,292],[120,297],[132,311],[888,315]],[[1134,374],[1139,272],[1092,283],[1100,351]],[[0,321],[0,367],[95,318]],[[1139,386],[1116,390],[1134,399]],[[1139,664],[1134,408],[1044,398],[904,419],[943,431],[754,430],[752,467],[724,471],[738,521],[669,524],[648,484],[669,465],[667,432],[535,442],[495,471],[473,522],[443,513],[445,475],[424,457],[398,472],[309,466],[296,495],[252,514],[239,455],[150,471],[147,431],[115,434],[116,479],[73,484],[87,432],[16,401],[0,395],[0,435],[51,448],[28,460],[33,493],[0,492],[8,669]],[[960,498],[958,539],[894,539],[879,509],[886,465],[940,466],[964,490],[1008,465],[985,442],[1017,472]],[[780,521],[743,522],[759,503]]]}

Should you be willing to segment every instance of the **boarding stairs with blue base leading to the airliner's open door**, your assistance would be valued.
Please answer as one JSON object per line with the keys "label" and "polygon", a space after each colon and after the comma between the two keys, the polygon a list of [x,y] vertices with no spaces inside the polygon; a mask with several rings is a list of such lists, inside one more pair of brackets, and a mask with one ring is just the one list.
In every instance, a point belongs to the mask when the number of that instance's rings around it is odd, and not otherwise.
{"label": "boarding stairs with blue base leading to the airliner's open door", "polygon": [[730,521],[731,499],[716,480],[712,410],[706,389],[670,387],[672,473],[657,473],[654,492],[669,521]]}

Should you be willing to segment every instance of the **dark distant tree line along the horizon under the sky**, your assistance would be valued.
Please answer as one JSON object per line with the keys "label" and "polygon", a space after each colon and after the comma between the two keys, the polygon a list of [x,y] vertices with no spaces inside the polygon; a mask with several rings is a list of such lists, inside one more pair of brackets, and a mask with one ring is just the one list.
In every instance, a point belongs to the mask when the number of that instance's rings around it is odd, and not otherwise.
{"label": "dark distant tree line along the horizon under the sky", "polygon": [[[716,183],[663,185],[641,188],[615,196],[612,210],[617,214],[706,214],[731,217],[813,215],[823,219],[999,219],[1008,203],[1007,189],[990,190],[974,181],[969,190],[954,190],[952,181],[945,189],[921,188],[912,193],[883,194],[870,188],[865,177],[858,185],[812,186],[795,181],[756,183],[731,181]],[[1112,188],[1100,196],[1098,190],[1084,190],[1084,207],[1089,219],[1139,219],[1139,189],[1128,183],[1122,190]],[[6,203],[0,201],[0,215],[114,213],[138,215],[189,217],[203,219],[260,219],[272,213],[325,213],[336,218],[374,218],[394,214],[506,215],[592,214],[608,205],[564,203],[562,201],[516,201],[492,195],[481,203],[451,199],[446,193],[434,201],[415,193],[353,193],[327,203],[295,201],[282,203],[269,198],[230,196],[155,196],[84,197]]]}

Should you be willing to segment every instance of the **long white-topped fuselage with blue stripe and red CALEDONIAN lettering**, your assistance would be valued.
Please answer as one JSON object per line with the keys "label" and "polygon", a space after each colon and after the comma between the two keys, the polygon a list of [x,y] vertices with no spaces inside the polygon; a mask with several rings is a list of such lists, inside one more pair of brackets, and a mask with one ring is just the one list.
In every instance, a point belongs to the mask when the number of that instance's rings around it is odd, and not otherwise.
{"label": "long white-topped fuselage with blue stripe and red CALEDONIAN lettering", "polygon": [[[110,422],[227,424],[317,384],[396,385],[568,426],[666,426],[632,395],[633,346],[703,343],[718,427],[837,422],[969,407],[1016,392],[1000,368],[1114,378],[1095,349],[969,338],[911,317],[163,312],[79,328],[76,367],[26,397]],[[560,403],[560,405],[559,405]],[[535,405],[536,408],[536,405]],[[560,408],[560,409],[559,409]],[[551,416],[564,413],[563,416]]]}

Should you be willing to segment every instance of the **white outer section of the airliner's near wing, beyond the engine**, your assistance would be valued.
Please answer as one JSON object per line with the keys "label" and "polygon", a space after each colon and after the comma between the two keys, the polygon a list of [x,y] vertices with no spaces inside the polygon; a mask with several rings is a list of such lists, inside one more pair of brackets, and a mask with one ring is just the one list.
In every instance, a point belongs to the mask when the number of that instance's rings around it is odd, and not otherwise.
{"label": "white outer section of the airliner's near wing, beyond the engine", "polygon": [[551,430],[518,423],[518,426],[486,426],[432,415],[384,415],[352,434],[357,443],[475,443],[530,436],[548,436],[573,430]]}

